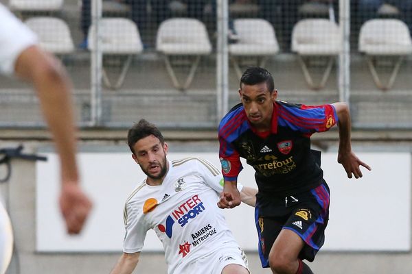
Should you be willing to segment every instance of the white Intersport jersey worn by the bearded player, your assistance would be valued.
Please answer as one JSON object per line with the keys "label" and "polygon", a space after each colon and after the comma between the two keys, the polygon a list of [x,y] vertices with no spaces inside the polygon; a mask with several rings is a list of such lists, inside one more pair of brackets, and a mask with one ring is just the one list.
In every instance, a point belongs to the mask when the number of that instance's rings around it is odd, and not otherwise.
{"label": "white Intersport jersey worn by the bearded player", "polygon": [[[161,186],[144,182],[126,201],[124,252],[141,251],[154,229],[163,244],[168,273],[186,274],[185,266],[223,247],[238,248],[216,203],[223,190],[220,171],[201,158],[169,162]],[[242,186],[238,184],[239,190]]]}

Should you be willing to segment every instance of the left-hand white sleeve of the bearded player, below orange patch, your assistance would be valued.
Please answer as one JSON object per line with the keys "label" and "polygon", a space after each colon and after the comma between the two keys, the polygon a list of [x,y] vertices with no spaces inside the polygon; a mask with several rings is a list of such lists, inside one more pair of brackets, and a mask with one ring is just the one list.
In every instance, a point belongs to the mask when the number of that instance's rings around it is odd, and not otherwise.
{"label": "left-hand white sleeve of the bearded player, below orange patch", "polygon": [[123,251],[124,253],[140,252],[144,246],[146,233],[150,229],[143,219],[143,211],[139,208],[131,207],[126,203],[124,206],[124,236]]}

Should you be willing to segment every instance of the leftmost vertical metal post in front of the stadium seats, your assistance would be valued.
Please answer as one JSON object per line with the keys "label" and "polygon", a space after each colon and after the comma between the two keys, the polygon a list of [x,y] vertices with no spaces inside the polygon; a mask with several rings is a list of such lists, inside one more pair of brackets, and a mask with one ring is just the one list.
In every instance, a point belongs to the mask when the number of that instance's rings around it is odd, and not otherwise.
{"label": "leftmost vertical metal post in front of the stadium seats", "polygon": [[[91,23],[95,25],[92,33],[94,50],[91,51],[91,126],[102,124],[102,48],[100,19],[102,18],[102,0],[92,0]],[[91,42],[91,41],[89,41]]]}

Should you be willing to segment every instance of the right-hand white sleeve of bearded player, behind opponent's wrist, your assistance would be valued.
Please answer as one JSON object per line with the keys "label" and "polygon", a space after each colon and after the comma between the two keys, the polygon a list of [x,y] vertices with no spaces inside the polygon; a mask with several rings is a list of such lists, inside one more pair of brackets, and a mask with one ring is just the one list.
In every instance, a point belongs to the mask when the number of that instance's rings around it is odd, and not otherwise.
{"label": "right-hand white sleeve of bearded player, behind opponent's wrist", "polygon": [[[214,164],[211,164],[207,160],[198,159],[198,169],[201,173],[201,176],[205,180],[205,184],[210,186],[212,189],[214,189],[218,194],[223,191],[223,177],[222,173],[214,166]],[[238,190],[239,192],[242,191],[243,186],[242,184],[238,184]]]}

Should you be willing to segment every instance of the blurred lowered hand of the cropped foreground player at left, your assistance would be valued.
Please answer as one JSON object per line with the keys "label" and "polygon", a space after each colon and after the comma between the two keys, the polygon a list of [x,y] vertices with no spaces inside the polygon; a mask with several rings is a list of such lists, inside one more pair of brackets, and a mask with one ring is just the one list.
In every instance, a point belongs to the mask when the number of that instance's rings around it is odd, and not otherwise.
{"label": "blurred lowered hand of the cropped foreground player at left", "polygon": [[63,184],[60,193],[60,210],[69,234],[79,234],[89,216],[91,201],[78,184]]}

